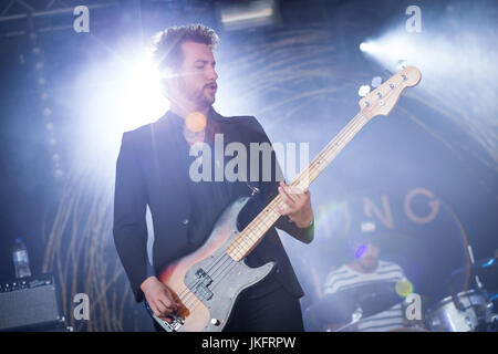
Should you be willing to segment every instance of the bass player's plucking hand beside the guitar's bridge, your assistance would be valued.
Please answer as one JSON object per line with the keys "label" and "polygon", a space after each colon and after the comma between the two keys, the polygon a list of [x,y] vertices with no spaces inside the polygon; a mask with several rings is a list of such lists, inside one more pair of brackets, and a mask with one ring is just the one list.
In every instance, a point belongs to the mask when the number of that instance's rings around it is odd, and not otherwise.
{"label": "bass player's plucking hand beside the guitar's bridge", "polygon": [[149,277],[144,280],[141,289],[154,314],[160,320],[169,322],[169,319],[166,316],[179,308],[169,289],[156,277]]}

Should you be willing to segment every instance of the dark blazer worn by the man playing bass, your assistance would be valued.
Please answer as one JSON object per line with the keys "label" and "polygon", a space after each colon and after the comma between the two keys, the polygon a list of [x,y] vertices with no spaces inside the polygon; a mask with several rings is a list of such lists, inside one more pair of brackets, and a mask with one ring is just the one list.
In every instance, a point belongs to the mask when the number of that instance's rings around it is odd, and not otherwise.
{"label": "dark blazer worn by the man playing bass", "polygon": [[[209,118],[222,126],[226,143],[240,142],[249,148],[251,142],[269,142],[255,117],[224,117],[211,108]],[[190,205],[185,183],[189,178],[185,156],[188,156],[188,145],[186,147],[181,128],[183,119],[168,112],[155,123],[123,134],[116,163],[113,233],[137,302],[144,299],[139,285],[146,278],[159,274],[166,266],[198,247],[187,238]],[[237,196],[250,195],[251,189],[246,183],[236,184]],[[258,196],[264,205],[278,194],[278,181],[249,184],[260,189]],[[147,258],[147,205],[154,225],[154,266]],[[312,226],[300,229],[289,218],[281,217],[248,256],[248,264],[258,267],[276,261],[278,268],[272,277],[300,298],[303,291],[274,227],[305,243],[313,239]],[[210,231],[206,230],[206,235]],[[260,288],[259,292],[264,292],[263,287]]]}

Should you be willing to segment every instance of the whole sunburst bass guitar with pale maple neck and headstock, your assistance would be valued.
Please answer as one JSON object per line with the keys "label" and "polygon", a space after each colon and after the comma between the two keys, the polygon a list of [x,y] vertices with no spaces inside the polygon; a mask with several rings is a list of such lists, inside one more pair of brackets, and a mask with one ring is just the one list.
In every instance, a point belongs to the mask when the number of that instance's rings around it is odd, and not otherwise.
{"label": "whole sunburst bass guitar with pale maple neck and headstock", "polygon": [[[408,66],[360,100],[360,112],[290,185],[305,190],[371,118],[387,115],[402,92],[419,81],[418,69]],[[221,331],[238,294],[272,271],[273,262],[249,268],[245,257],[280,217],[277,206],[282,207],[283,201],[279,195],[274,197],[239,231],[237,218],[248,199],[243,197],[234,201],[224,210],[209,238],[197,251],[177,260],[159,274],[158,279],[168,287],[179,309],[168,316],[167,322],[157,317],[146,302],[145,305],[165,331]]]}

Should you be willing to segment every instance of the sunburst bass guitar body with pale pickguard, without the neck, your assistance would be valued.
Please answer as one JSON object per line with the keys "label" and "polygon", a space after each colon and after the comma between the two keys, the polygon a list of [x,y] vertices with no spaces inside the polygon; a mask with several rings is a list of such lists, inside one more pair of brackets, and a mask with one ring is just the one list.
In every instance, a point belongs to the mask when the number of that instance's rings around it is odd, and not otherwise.
{"label": "sunburst bass guitar body with pale pickguard, without the neck", "polygon": [[166,268],[158,277],[181,305],[167,323],[151,315],[168,332],[219,332],[230,315],[239,293],[264,279],[273,269],[269,262],[249,268],[227,254],[239,235],[237,219],[249,200],[234,201],[218,218],[209,238],[196,252]]}

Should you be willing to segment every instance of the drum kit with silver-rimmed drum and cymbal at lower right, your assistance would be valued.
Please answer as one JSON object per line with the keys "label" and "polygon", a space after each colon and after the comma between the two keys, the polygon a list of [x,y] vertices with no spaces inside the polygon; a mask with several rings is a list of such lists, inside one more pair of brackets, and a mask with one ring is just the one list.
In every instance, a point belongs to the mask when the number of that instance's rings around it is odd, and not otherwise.
{"label": "drum kit with silver-rimmed drum and cymbal at lower right", "polygon": [[[497,294],[487,292],[478,277],[497,279],[498,258],[474,262],[454,271],[448,284],[455,279],[476,277],[477,289],[452,293],[424,311],[422,320],[412,327],[401,327],[395,332],[497,332],[498,315],[492,301]],[[449,285],[448,289],[452,289]],[[403,303],[404,298],[396,292],[396,283],[378,281],[347,288],[323,296],[305,310],[311,331],[354,331],[362,320]]]}

